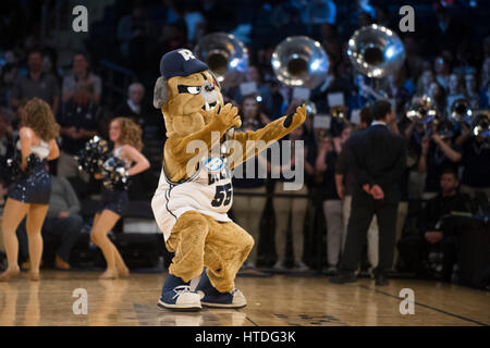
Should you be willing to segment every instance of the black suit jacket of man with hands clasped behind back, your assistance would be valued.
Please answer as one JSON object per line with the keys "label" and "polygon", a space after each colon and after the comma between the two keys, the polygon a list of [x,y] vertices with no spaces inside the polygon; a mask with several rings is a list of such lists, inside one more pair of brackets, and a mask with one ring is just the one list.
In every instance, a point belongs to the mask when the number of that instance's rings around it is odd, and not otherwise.
{"label": "black suit jacket of man with hands clasped behind back", "polygon": [[[356,179],[354,195],[365,184],[379,185],[384,200],[399,200],[399,184],[406,167],[405,139],[384,125],[372,125],[347,141],[350,170]],[[370,196],[369,196],[370,197]]]}

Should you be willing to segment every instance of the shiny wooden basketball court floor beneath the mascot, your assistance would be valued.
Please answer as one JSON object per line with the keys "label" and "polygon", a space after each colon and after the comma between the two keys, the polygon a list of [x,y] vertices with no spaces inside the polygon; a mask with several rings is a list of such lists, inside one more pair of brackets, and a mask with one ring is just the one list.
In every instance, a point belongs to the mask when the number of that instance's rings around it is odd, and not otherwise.
{"label": "shiny wooden basketball court floor beneath the mascot", "polygon": [[[0,283],[0,325],[164,326],[385,326],[490,325],[490,293],[432,281],[369,278],[334,285],[326,276],[238,276],[248,306],[240,310],[173,312],[157,307],[166,273],[133,273],[100,281],[96,272],[42,271]],[[77,288],[87,294],[87,314],[75,314]],[[414,291],[414,314],[401,314],[400,290]],[[405,306],[406,308],[406,306]]]}

